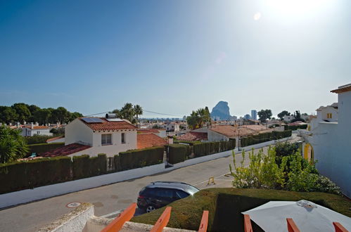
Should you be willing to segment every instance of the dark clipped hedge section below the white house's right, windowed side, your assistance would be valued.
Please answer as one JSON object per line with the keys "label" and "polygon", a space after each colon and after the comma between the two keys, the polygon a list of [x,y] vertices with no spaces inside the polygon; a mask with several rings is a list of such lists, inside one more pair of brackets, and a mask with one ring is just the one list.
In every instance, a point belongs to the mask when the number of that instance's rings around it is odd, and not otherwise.
{"label": "dark clipped hedge section below the white house's right, windowed side", "polygon": [[144,148],[138,150],[128,150],[115,155],[116,172],[157,165],[163,161],[164,147]]}

